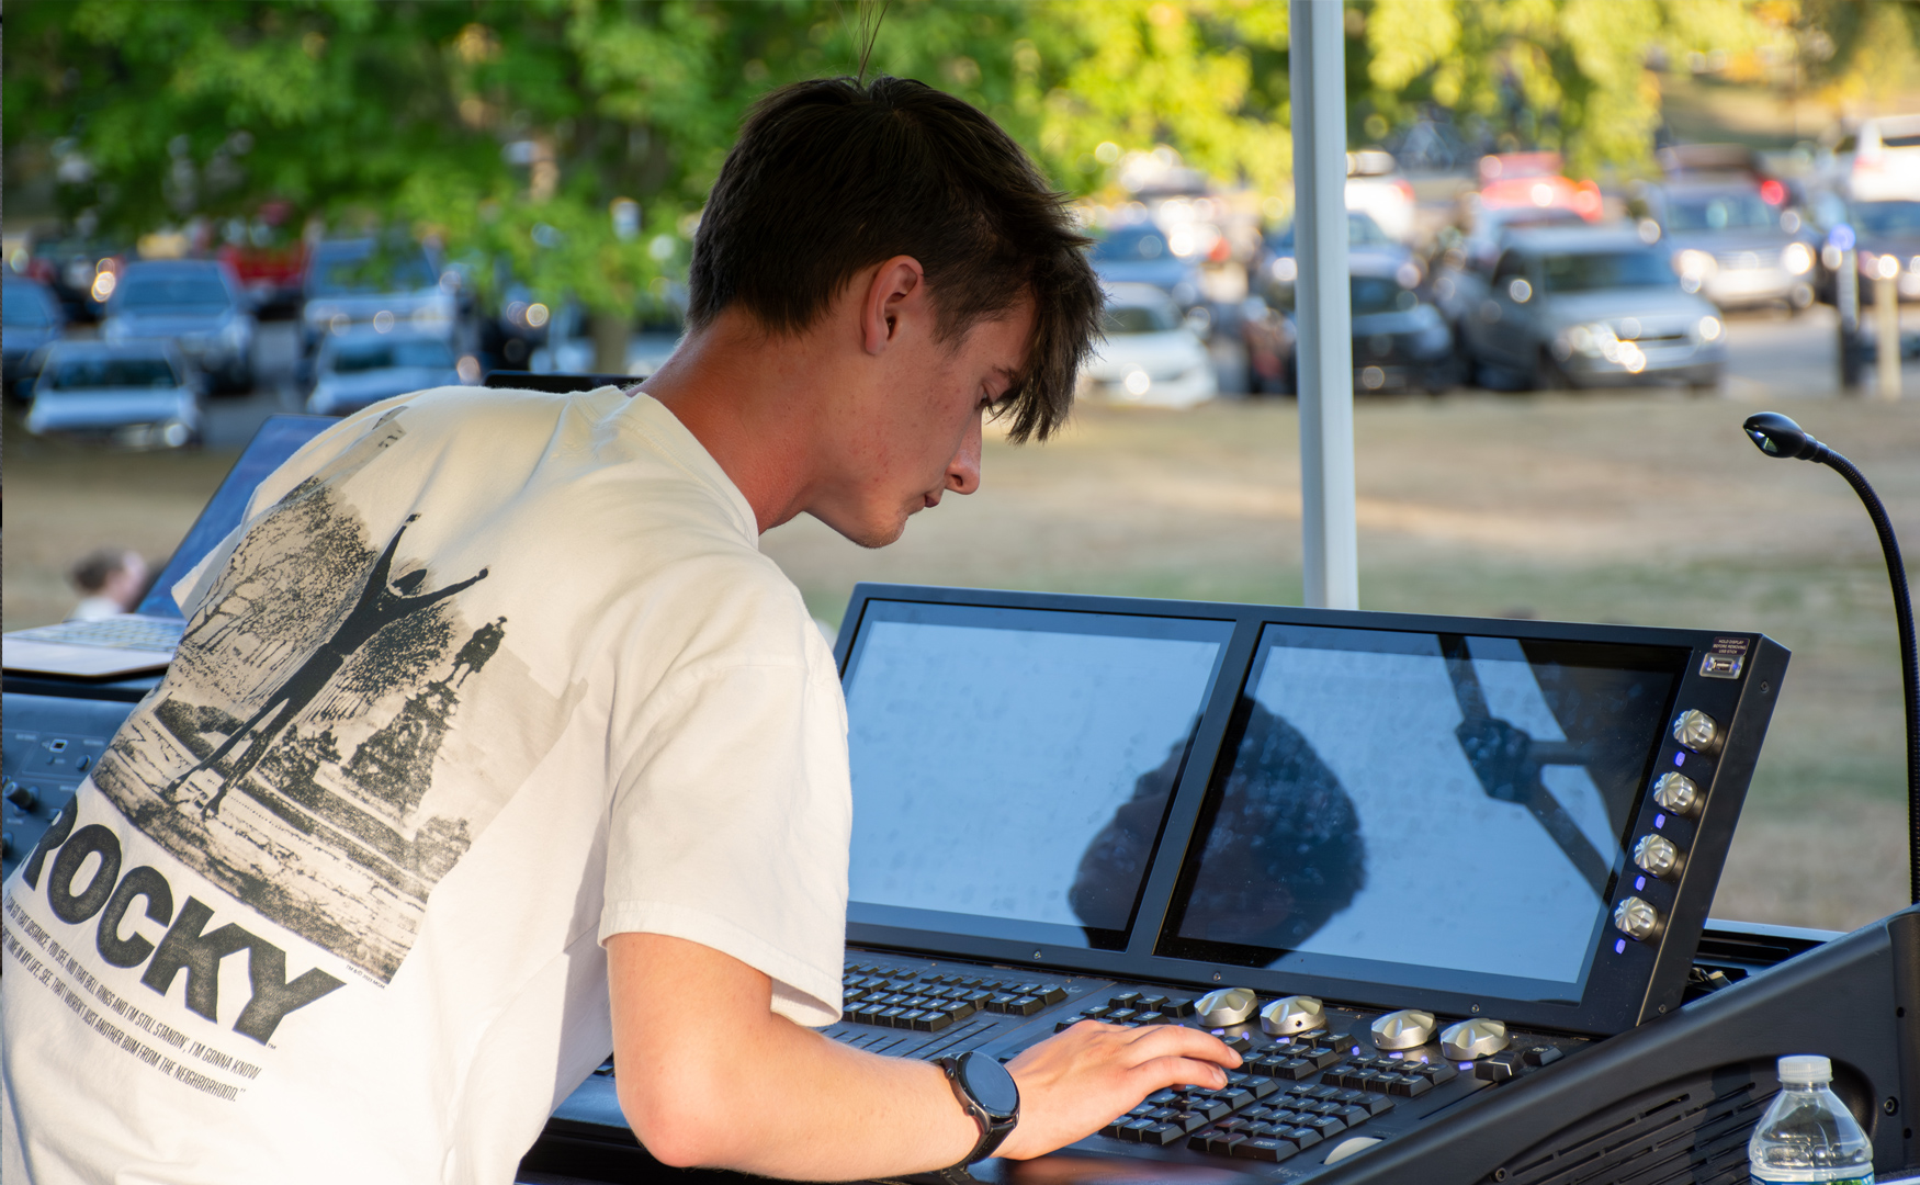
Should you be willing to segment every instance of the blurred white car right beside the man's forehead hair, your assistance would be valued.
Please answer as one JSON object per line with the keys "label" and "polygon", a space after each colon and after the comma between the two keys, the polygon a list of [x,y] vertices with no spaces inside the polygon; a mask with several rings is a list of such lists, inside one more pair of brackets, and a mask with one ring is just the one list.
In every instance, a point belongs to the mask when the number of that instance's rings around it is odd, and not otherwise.
{"label": "blurred white car right beside the man's forehead hair", "polygon": [[1106,336],[1081,369],[1081,394],[1106,403],[1192,407],[1219,394],[1200,334],[1152,284],[1108,284]]}

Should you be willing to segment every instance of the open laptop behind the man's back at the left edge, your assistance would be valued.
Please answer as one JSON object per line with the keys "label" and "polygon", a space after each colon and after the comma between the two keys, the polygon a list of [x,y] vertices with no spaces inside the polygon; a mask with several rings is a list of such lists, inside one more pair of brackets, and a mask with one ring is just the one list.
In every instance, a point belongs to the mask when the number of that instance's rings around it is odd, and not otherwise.
{"label": "open laptop behind the man's back at the left edge", "polygon": [[186,630],[173,586],[240,524],[267,474],[336,423],[324,415],[267,417],[134,613],[6,634],[0,638],[6,670],[92,680],[165,670]]}

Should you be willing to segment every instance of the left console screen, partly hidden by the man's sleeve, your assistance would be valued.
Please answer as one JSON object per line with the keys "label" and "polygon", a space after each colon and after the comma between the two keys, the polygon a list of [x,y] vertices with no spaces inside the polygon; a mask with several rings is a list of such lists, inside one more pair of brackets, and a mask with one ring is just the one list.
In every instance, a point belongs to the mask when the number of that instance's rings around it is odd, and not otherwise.
{"label": "left console screen, partly hidden by the man's sleeve", "polygon": [[1123,949],[1231,632],[868,601],[849,920]]}

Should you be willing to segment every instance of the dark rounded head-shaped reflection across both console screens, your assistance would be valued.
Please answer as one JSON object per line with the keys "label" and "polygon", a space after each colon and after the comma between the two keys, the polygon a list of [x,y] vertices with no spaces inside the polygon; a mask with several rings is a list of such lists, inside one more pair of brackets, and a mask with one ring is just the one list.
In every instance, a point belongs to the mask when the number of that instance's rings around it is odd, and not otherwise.
{"label": "dark rounded head-shaped reflection across both console screens", "polygon": [[[1292,949],[1367,883],[1367,843],[1340,780],[1300,732],[1260,703],[1250,709],[1233,772],[1204,828],[1206,849],[1181,933]],[[1081,857],[1068,903],[1085,926],[1125,926],[1152,859],[1185,745],[1135,782]],[[1119,922],[1112,918],[1117,914]]]}

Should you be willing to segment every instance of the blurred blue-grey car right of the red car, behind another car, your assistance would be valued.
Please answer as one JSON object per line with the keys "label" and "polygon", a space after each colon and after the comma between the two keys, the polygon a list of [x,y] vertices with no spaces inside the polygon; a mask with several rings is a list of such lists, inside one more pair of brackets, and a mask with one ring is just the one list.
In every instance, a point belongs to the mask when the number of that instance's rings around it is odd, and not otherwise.
{"label": "blurred blue-grey car right of the red car, behind another car", "polygon": [[300,315],[301,355],[328,334],[386,334],[411,328],[453,342],[459,284],[411,240],[330,238],[313,248]]}

